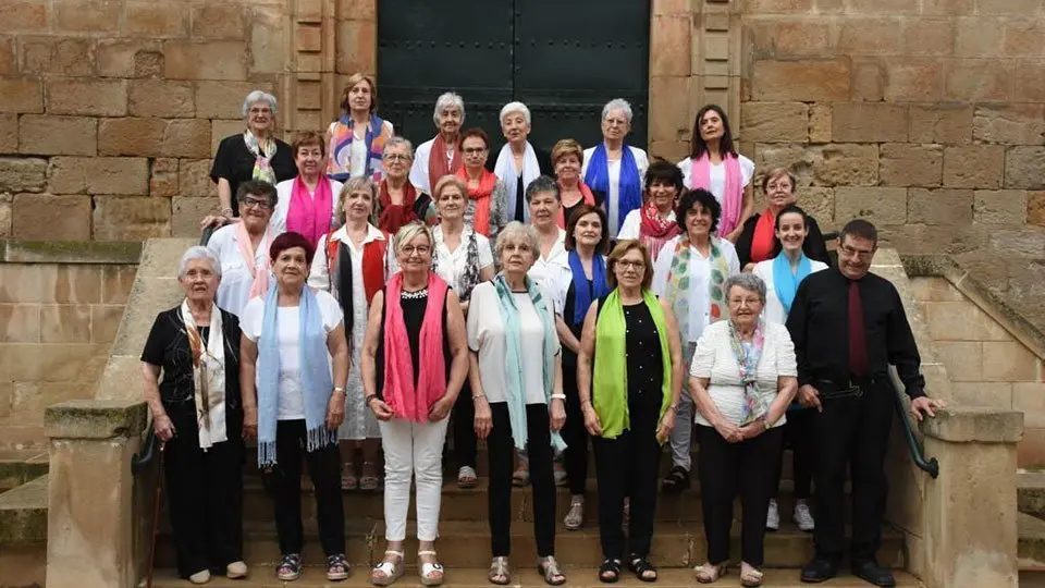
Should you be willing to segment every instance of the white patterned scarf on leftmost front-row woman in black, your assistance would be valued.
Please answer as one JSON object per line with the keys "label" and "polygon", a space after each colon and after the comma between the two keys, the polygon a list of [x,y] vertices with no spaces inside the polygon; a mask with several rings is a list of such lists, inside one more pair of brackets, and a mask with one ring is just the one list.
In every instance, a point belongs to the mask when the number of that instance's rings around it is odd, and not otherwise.
{"label": "white patterned scarf on leftmost front-row woman in black", "polygon": [[225,433],[225,345],[221,330],[221,310],[217,305],[210,309],[210,332],[207,333],[206,348],[188,308],[188,299],[182,301],[182,321],[185,323],[193,356],[199,446],[207,451],[214,443],[229,439]]}

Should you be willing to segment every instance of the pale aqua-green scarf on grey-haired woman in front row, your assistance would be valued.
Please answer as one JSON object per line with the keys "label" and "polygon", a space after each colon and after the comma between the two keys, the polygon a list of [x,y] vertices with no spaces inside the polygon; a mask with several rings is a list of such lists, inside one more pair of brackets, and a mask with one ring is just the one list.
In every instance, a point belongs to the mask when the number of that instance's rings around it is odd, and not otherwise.
{"label": "pale aqua-green scarf on grey-haired woman in front row", "polygon": [[[505,396],[508,404],[508,420],[512,424],[512,439],[515,441],[515,446],[521,450],[526,449],[527,428],[526,392],[522,390],[522,348],[519,344],[519,308],[515,305],[512,286],[508,285],[504,272],[493,279],[493,285],[497,291],[501,320],[504,321],[504,341],[507,344],[505,381],[508,390]],[[529,278],[526,279],[526,290],[544,326],[544,403],[550,404],[552,388],[555,385],[555,342],[558,341],[555,334],[555,319],[552,318],[552,310],[541,295],[540,289]],[[566,449],[566,442],[557,432],[552,433],[552,446],[556,451]]]}

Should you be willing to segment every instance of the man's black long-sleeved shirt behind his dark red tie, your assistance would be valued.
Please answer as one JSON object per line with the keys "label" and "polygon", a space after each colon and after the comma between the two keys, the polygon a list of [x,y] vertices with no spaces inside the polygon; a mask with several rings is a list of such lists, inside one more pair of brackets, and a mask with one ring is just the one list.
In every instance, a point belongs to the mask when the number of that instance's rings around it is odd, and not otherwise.
{"label": "man's black long-sleeved shirt behind his dark red tie", "polygon": [[[849,373],[849,283],[837,268],[809,274],[798,286],[787,330],[795,342],[799,385],[831,380],[845,382]],[[889,364],[912,399],[925,395],[921,357],[907,322],[903,304],[893,283],[873,273],[859,282],[866,336],[868,376],[885,378]]]}

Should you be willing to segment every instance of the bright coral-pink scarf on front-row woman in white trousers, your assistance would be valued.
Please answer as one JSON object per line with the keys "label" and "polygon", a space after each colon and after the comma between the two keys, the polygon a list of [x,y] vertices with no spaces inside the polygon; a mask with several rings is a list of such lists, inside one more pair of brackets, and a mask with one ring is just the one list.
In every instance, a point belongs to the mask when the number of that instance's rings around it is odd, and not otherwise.
{"label": "bright coral-pink scarf on front-row woman in white trousers", "polygon": [[403,272],[393,275],[384,289],[384,402],[397,418],[428,422],[428,411],[446,393],[446,362],[443,357],[443,305],[448,286],[434,271],[428,273],[428,303],[418,338],[420,350],[417,387],[410,342],[403,320],[401,293]]}

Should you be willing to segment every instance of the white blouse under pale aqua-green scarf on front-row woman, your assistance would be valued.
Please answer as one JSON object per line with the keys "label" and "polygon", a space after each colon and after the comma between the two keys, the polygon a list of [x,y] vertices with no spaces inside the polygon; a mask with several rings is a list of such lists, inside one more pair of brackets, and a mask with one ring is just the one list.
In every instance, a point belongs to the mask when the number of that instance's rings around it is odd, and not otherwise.
{"label": "white blouse under pale aqua-green scarf on front-row woman", "polygon": [[[545,301],[546,291],[542,292]],[[515,305],[519,309],[519,345],[522,354],[522,391],[527,404],[545,404],[544,397],[544,324],[530,301],[530,295],[513,293]],[[555,354],[561,346],[558,338],[552,333]],[[497,299],[493,282],[483,282],[471,291],[468,306],[468,347],[479,355],[479,379],[487,401],[507,401],[508,346],[505,342],[504,321],[501,318],[501,303]]]}

